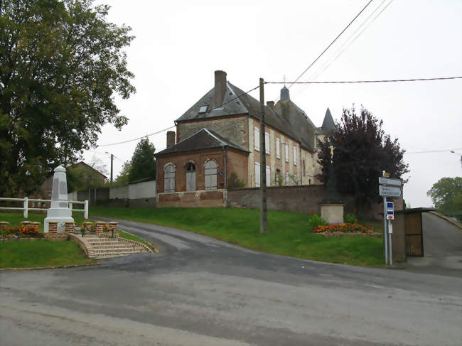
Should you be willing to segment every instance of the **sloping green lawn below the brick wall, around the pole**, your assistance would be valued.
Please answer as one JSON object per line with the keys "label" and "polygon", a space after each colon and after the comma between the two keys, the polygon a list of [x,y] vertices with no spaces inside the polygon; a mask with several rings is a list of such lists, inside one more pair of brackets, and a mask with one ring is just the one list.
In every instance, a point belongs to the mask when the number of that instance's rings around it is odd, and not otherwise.
{"label": "sloping green lawn below the brick wall, around the pole", "polygon": [[307,227],[308,215],[296,212],[269,211],[267,234],[259,232],[259,210],[90,207],[90,215],[186,229],[259,252],[301,259],[358,266],[383,266],[384,262],[382,239],[313,234]]}

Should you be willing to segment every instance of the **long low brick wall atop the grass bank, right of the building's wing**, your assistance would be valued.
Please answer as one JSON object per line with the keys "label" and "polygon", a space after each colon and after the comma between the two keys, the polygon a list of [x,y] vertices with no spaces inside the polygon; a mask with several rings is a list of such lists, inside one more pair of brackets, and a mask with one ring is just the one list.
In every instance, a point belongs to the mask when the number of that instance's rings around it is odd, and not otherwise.
{"label": "long low brick wall atop the grass bank, right of the building's wing", "polygon": [[[299,185],[267,188],[268,210],[284,210],[287,212],[313,212],[321,215],[319,204],[326,199],[324,185]],[[358,209],[359,217],[365,219],[382,220],[380,212],[383,203],[377,202],[368,205],[355,205],[355,198],[351,195],[340,195],[345,202],[345,213],[353,213]],[[259,209],[261,203],[259,188],[244,188],[227,191],[227,207],[243,207]],[[394,209],[402,210],[402,198],[394,199]]]}

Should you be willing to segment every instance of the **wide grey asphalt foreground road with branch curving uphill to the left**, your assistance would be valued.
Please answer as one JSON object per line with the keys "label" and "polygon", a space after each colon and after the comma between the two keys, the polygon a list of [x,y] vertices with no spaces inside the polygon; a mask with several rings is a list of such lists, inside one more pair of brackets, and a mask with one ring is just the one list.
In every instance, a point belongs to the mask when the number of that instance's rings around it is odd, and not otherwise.
{"label": "wide grey asphalt foreground road with branch curving uphill to the left", "polygon": [[1,345],[460,345],[462,279],[121,222],[161,254],[0,273]]}

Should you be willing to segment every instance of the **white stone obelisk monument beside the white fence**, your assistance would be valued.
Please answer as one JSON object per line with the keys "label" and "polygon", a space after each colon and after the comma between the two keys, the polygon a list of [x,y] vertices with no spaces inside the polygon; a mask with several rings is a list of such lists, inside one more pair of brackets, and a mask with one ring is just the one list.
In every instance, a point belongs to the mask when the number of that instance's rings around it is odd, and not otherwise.
{"label": "white stone obelisk monument beside the white fence", "polygon": [[43,232],[48,233],[48,221],[58,221],[58,233],[65,232],[66,221],[72,219],[72,210],[68,205],[68,180],[63,166],[55,168],[53,175],[53,188],[51,189],[51,206],[46,211]]}

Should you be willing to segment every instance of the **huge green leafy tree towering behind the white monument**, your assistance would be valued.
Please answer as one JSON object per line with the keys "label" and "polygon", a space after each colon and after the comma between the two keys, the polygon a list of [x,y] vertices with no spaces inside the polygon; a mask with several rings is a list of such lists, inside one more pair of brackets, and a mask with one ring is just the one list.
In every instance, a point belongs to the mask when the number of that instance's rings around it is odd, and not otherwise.
{"label": "huge green leafy tree towering behind the white monument", "polygon": [[131,28],[92,0],[0,1],[0,195],[31,193],[52,169],[77,161],[114,104],[135,88],[123,49]]}

